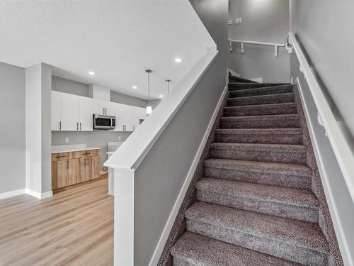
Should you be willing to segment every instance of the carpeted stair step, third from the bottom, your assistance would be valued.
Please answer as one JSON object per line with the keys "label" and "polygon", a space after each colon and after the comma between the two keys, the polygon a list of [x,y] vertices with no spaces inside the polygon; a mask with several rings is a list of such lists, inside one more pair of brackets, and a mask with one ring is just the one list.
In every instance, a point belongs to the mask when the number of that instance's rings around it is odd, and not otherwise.
{"label": "carpeted stair step, third from the bottom", "polygon": [[317,223],[319,202],[308,190],[204,177],[197,200],[261,214]]}

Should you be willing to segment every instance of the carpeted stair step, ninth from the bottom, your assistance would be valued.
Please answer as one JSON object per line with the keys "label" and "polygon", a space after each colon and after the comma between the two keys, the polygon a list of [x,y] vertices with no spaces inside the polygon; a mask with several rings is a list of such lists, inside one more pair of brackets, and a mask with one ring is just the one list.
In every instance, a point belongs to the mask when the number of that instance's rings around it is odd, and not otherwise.
{"label": "carpeted stair step, ninth from the bottom", "polygon": [[246,96],[227,99],[227,106],[244,106],[256,104],[281,104],[295,101],[295,94],[270,94],[260,96]]}

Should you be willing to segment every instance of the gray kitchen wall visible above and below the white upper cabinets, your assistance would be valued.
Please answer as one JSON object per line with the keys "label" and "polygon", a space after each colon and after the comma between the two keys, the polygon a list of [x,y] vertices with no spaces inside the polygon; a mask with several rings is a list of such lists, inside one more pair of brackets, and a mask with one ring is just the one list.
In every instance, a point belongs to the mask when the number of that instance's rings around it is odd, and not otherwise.
{"label": "gray kitchen wall visible above and below the white upper cabinets", "polygon": [[[52,89],[58,92],[76,94],[89,97],[89,85],[74,82],[61,77],[52,77]],[[132,106],[146,107],[147,101],[135,98],[118,92],[110,92],[110,101]],[[158,100],[159,101],[159,100]],[[52,131],[52,145],[70,145],[86,143],[89,147],[101,148],[101,163],[107,160],[107,143],[125,140],[131,133],[93,131],[93,132],[74,132],[74,131]],[[69,138],[69,143],[65,143],[65,138]]]}

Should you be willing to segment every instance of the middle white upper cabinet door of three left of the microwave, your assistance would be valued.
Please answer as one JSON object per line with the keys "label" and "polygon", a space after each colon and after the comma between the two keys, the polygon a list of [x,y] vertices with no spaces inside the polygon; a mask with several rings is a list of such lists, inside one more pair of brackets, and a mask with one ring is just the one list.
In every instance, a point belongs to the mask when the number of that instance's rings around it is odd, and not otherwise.
{"label": "middle white upper cabinet door of three left of the microwave", "polygon": [[79,96],[62,94],[62,131],[79,130]]}

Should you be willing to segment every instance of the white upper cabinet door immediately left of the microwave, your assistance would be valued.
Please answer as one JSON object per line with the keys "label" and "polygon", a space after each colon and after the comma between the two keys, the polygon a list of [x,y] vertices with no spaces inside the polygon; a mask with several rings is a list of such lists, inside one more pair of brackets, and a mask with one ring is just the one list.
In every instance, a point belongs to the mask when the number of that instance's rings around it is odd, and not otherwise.
{"label": "white upper cabinet door immediately left of the microwave", "polygon": [[79,96],[79,131],[93,131],[93,99]]}

